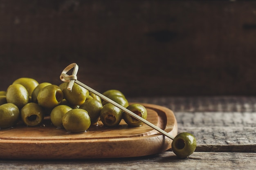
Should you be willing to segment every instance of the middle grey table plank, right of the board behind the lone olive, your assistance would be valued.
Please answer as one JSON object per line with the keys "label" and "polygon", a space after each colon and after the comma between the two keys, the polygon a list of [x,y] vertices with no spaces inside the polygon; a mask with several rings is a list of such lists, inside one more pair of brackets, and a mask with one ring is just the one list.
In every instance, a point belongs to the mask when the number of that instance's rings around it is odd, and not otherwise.
{"label": "middle grey table plank, right of the board behind the lone olive", "polygon": [[179,132],[191,132],[197,151],[256,152],[256,113],[175,113]]}

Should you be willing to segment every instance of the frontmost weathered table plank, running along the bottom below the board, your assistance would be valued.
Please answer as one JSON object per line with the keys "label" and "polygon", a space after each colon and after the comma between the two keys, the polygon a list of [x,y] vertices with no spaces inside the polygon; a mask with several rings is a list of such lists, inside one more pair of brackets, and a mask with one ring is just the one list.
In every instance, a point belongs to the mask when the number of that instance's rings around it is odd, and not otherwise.
{"label": "frontmost weathered table plank, running along the bottom below the board", "polygon": [[255,168],[256,153],[194,152],[177,159],[173,152],[126,159],[0,160],[0,170],[248,170]]}

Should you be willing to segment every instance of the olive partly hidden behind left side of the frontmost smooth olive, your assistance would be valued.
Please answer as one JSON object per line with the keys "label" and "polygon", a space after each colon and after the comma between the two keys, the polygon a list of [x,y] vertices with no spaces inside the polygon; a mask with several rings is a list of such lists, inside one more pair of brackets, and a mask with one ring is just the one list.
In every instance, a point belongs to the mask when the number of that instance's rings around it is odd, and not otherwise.
{"label": "olive partly hidden behind left side of the frontmost smooth olive", "polygon": [[63,128],[63,116],[70,110],[72,110],[72,108],[67,105],[58,105],[55,108],[53,108],[51,112],[52,124],[57,128]]}

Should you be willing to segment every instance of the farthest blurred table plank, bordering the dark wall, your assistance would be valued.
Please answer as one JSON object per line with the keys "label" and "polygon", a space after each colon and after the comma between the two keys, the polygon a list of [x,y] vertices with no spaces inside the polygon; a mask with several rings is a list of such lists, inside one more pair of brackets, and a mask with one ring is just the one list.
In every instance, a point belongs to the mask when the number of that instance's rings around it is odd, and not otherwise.
{"label": "farthest blurred table plank, bordering the dark wall", "polygon": [[158,104],[174,112],[256,112],[255,96],[153,96],[128,97],[128,100]]}

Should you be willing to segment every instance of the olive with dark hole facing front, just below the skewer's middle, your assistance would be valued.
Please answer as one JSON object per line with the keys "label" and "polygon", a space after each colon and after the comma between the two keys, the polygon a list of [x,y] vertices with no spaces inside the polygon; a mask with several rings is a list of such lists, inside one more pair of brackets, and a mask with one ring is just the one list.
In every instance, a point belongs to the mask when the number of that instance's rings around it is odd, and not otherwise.
{"label": "olive with dark hole facing front, just below the skewer's middle", "polygon": [[122,118],[123,110],[117,108],[113,104],[107,103],[101,109],[100,119],[104,126],[118,126]]}

